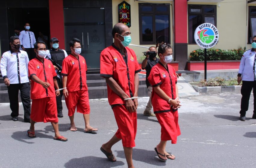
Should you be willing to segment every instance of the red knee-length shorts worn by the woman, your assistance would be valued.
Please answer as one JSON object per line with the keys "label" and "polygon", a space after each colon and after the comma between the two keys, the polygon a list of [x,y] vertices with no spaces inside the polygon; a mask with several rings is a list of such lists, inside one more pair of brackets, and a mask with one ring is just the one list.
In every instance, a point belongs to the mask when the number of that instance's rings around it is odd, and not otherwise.
{"label": "red knee-length shorts worn by the woman", "polygon": [[180,135],[178,110],[175,112],[156,113],[155,115],[161,125],[161,140],[171,140],[172,144],[177,143],[177,137]]}

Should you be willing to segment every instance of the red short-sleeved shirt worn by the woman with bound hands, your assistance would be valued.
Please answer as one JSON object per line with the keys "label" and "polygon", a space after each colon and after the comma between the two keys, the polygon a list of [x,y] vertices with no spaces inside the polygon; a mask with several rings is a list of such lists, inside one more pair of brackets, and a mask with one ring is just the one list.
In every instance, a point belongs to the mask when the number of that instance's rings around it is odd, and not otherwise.
{"label": "red short-sleeved shirt worn by the woman with bound hands", "polygon": [[[158,64],[151,69],[148,81],[153,87],[160,85],[160,88],[167,94],[167,96],[174,100],[176,98],[177,83],[177,76],[175,72],[175,69],[171,65],[167,64],[166,69],[161,62],[158,62]],[[154,88],[152,90],[151,101],[154,113],[171,111],[168,101],[155,93]]]}

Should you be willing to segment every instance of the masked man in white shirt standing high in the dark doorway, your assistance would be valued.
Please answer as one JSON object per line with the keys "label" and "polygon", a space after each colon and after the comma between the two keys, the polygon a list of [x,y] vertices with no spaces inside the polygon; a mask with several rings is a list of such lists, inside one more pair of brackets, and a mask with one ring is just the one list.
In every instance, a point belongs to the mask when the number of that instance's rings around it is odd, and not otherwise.
{"label": "masked man in white shirt standing high in the dark doorway", "polygon": [[20,46],[23,51],[28,54],[29,60],[36,58],[36,53],[34,52],[34,43],[36,43],[36,38],[33,32],[30,32],[30,24],[26,23],[24,26],[25,30],[20,32]]}

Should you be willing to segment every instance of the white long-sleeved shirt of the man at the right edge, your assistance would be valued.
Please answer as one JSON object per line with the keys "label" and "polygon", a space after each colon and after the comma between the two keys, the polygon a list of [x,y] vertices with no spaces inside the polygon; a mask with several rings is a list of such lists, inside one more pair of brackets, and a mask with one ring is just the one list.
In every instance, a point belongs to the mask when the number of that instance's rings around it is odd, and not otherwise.
{"label": "white long-sleeved shirt of the man at the right edge", "polygon": [[242,75],[242,80],[245,81],[254,81],[255,77],[255,54],[256,52],[247,50],[243,54],[239,66],[238,76]]}

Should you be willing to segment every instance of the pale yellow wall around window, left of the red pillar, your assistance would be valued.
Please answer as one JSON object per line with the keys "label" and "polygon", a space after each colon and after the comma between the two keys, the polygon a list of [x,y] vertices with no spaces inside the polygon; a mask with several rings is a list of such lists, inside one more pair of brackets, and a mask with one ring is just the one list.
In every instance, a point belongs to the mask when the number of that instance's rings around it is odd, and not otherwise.
{"label": "pale yellow wall around window, left of the red pillar", "polygon": [[[112,17],[113,17],[113,26],[118,23],[118,4],[120,4],[123,0],[112,0]],[[144,0],[146,2],[146,0]],[[143,1],[143,3],[144,3]],[[131,38],[132,42],[131,44],[139,45],[139,1],[134,0],[126,0],[127,3],[131,5]],[[148,3],[153,3],[155,1],[148,1]],[[157,3],[166,3],[171,4],[170,5],[170,35],[171,35],[171,45],[173,46],[173,2],[171,1],[157,1]],[[152,45],[143,45],[143,46],[155,46],[155,44]],[[142,62],[144,51],[147,51],[147,48],[142,47],[136,47],[136,46],[129,46],[132,48],[136,55],[139,62]]]}

